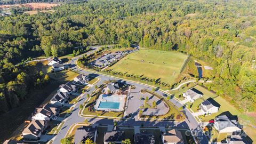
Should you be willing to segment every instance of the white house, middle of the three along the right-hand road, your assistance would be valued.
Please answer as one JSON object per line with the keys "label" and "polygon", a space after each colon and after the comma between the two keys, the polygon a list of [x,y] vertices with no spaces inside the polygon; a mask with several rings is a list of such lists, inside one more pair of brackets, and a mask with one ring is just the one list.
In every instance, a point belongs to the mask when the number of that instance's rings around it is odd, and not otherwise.
{"label": "white house, middle of the three along the right-hand road", "polygon": [[215,105],[215,103],[209,100],[205,100],[199,105],[199,108],[203,114],[213,114],[218,113],[220,107],[219,105]]}

